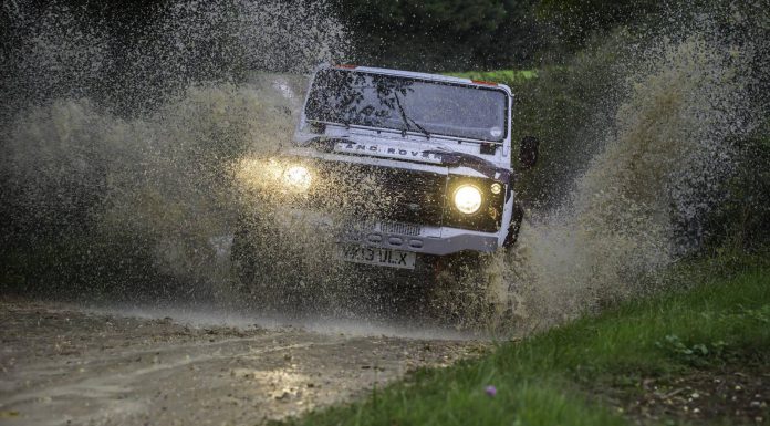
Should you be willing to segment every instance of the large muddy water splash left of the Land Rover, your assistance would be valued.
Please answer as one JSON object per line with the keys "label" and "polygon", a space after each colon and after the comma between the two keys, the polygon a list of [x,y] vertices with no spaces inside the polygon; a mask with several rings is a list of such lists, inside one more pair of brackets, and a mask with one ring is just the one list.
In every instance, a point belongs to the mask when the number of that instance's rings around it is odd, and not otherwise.
{"label": "large muddy water splash left of the Land Rover", "polygon": [[288,144],[303,98],[304,77],[266,71],[342,58],[343,27],[302,1],[170,2],[117,32],[59,3],[3,11],[11,269],[48,294],[210,298],[229,274],[233,164]]}

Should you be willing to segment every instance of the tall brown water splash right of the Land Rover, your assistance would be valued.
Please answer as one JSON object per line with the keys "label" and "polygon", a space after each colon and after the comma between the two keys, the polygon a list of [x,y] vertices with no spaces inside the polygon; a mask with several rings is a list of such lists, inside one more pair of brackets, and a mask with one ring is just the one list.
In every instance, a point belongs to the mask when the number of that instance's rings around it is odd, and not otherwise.
{"label": "tall brown water splash right of the Land Rover", "polygon": [[736,166],[730,138],[752,128],[750,52],[729,48],[695,34],[644,52],[569,199],[530,211],[516,251],[492,260],[492,316],[512,315],[519,331],[559,324],[652,291],[699,247]]}

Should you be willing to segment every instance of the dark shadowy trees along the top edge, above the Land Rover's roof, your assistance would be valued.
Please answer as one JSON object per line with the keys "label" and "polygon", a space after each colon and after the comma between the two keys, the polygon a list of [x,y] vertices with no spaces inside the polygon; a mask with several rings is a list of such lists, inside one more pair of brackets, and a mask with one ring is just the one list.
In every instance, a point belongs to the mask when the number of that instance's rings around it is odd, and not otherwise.
{"label": "dark shadowy trees along the top edge, above the Land Rover's roof", "polygon": [[[32,0],[41,11],[65,6],[132,43],[179,0]],[[280,0],[277,0],[280,1]],[[708,1],[708,0],[705,0]],[[663,9],[654,0],[327,0],[347,27],[358,63],[419,71],[530,67],[570,53],[597,32],[638,24]],[[29,2],[25,2],[29,4]],[[14,2],[0,10],[2,46],[23,33]],[[119,46],[118,46],[119,48]],[[3,49],[4,50],[4,49]]]}

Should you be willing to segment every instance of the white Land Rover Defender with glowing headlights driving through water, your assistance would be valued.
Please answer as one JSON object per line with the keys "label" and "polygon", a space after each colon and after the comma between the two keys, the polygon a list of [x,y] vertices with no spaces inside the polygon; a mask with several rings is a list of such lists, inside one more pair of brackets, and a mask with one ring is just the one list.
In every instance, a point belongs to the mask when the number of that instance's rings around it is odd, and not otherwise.
{"label": "white Land Rover Defender with glowing headlights driving through water", "polygon": [[[335,243],[347,262],[417,273],[461,253],[509,247],[521,222],[512,98],[503,84],[322,65],[293,146],[277,155],[272,176],[298,209],[344,211],[348,224]],[[526,138],[520,163],[531,167],[535,158],[537,139]],[[241,281],[281,267],[253,264],[260,256],[252,251],[269,249],[254,246],[254,232],[268,230],[241,225],[235,237]]]}

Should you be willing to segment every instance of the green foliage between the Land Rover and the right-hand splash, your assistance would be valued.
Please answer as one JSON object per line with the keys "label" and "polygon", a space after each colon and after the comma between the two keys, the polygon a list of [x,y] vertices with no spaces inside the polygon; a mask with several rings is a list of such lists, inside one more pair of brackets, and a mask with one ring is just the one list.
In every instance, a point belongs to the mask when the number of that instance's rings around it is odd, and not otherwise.
{"label": "green foliage between the Land Rover and the right-hand splash", "polygon": [[564,65],[451,74],[511,87],[514,146],[526,136],[540,139],[539,165],[520,176],[518,188],[530,205],[549,207],[562,200],[596,153],[607,127],[601,120],[614,107],[614,75],[627,40],[626,33],[613,34]]}

